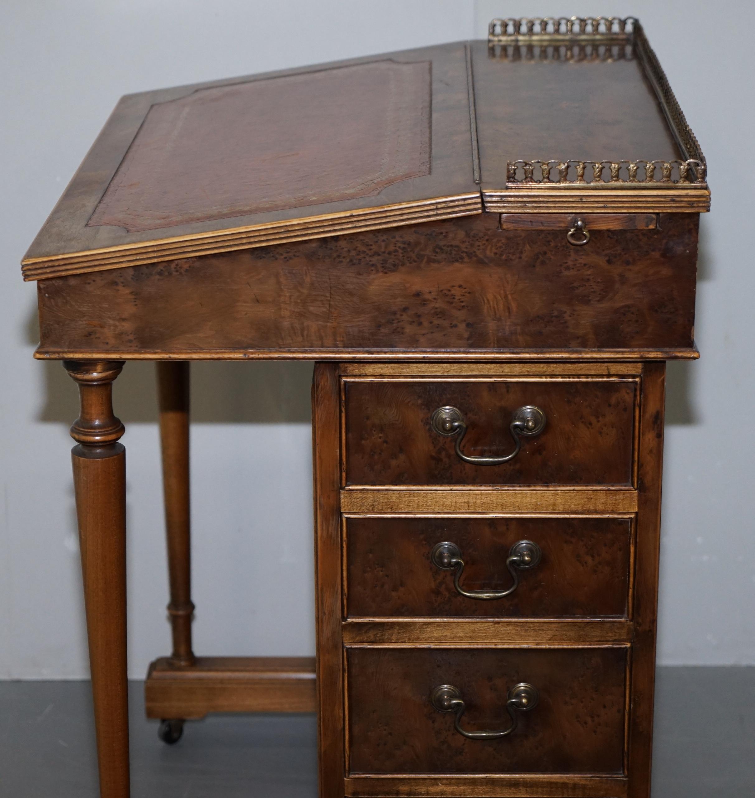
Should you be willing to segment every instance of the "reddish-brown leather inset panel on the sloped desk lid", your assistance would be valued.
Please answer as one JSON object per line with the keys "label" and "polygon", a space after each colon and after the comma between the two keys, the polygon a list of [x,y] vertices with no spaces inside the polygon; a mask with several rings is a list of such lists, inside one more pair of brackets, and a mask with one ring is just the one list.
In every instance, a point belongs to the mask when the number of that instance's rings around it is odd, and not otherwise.
{"label": "reddish-brown leather inset panel on the sloped desk lid", "polygon": [[431,173],[431,61],[372,61],[151,106],[88,227],[147,231],[374,196]]}

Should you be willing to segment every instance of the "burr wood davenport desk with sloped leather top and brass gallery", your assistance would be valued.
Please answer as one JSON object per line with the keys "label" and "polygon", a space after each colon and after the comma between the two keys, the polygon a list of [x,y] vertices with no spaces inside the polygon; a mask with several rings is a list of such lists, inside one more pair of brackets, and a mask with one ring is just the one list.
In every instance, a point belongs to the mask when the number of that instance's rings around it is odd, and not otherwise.
{"label": "burr wood davenport desk with sloped leather top and brass gallery", "polygon": [[[665,361],[698,356],[709,206],[632,18],[124,97],[23,262],[36,357],[81,389],[101,796],[129,793],[111,387],[147,359],[164,740],[317,707],[324,798],[647,798]],[[189,362],[255,358],[317,361],[317,667],[192,652]]]}

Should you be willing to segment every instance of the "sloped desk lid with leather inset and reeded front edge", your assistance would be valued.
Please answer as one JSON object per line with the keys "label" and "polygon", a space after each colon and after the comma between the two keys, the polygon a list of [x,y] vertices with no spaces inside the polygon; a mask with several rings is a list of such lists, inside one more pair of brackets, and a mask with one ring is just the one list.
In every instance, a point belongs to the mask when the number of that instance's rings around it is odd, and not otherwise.
{"label": "sloped desk lid with leather inset and reeded front edge", "polygon": [[[481,213],[469,88],[458,42],[128,94],[29,247],[24,277]],[[251,113],[253,94],[275,108]],[[163,113],[167,132],[150,132]]]}

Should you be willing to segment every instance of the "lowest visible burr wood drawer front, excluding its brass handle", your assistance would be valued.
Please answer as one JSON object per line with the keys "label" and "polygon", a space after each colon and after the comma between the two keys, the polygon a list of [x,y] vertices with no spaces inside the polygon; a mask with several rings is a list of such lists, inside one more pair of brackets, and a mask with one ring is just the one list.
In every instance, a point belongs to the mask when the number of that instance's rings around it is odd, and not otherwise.
{"label": "lowest visible burr wood drawer front, excluding its brass handle", "polygon": [[[627,650],[350,649],[349,771],[621,773]],[[509,689],[537,688],[534,709],[495,740],[468,740],[431,705],[454,685],[462,729],[505,729]]]}

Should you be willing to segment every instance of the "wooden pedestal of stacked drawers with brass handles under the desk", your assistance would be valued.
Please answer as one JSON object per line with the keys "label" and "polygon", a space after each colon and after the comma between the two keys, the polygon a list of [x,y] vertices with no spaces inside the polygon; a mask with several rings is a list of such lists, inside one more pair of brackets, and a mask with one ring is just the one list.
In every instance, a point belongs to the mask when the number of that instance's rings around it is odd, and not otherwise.
{"label": "wooden pedestal of stacked drawers with brass handles under the desk", "polygon": [[663,364],[319,364],[315,409],[323,795],[647,791]]}

